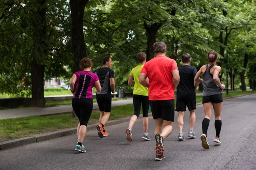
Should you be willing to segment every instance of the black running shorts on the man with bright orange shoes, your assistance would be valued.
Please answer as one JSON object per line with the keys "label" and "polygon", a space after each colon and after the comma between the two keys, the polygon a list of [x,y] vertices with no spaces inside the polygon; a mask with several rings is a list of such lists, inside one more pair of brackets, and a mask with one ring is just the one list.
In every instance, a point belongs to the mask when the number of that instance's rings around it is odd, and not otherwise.
{"label": "black running shorts on the man with bright orange shoes", "polygon": [[99,106],[99,111],[111,112],[111,104],[112,104],[111,92],[107,94],[96,94],[96,100]]}

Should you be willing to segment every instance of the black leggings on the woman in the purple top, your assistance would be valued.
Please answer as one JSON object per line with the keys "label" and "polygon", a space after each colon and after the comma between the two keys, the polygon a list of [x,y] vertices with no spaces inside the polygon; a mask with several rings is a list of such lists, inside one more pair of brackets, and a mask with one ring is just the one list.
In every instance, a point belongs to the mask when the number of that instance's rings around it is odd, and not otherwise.
{"label": "black leggings on the woman in the purple top", "polygon": [[93,111],[93,98],[72,99],[72,107],[79,119],[80,125],[87,126]]}

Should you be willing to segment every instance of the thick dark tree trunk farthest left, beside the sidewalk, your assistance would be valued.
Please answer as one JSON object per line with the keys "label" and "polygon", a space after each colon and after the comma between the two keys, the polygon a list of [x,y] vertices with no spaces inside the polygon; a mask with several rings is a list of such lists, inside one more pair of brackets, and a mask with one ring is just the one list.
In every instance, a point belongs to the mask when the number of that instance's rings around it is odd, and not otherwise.
{"label": "thick dark tree trunk farthest left, beside the sidewalk", "polygon": [[32,12],[34,55],[31,63],[32,107],[44,107],[44,60],[47,59],[46,11],[47,0],[36,0]]}

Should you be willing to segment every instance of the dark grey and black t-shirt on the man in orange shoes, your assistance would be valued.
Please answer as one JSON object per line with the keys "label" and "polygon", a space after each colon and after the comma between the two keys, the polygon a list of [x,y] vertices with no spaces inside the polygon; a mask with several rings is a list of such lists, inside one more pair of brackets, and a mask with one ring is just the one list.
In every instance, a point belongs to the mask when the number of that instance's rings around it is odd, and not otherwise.
{"label": "dark grey and black t-shirt on the man in orange shoes", "polygon": [[101,92],[97,92],[97,94],[107,94],[111,93],[111,86],[110,86],[110,78],[114,78],[115,73],[108,67],[102,67],[93,71],[99,77],[99,83],[102,87]]}

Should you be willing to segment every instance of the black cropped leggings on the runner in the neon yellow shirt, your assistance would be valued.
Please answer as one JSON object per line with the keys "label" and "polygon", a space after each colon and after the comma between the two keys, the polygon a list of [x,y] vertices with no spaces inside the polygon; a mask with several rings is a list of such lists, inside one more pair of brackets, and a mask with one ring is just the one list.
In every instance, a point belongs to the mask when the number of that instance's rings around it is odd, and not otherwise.
{"label": "black cropped leggings on the runner in the neon yellow shirt", "polygon": [[148,96],[133,95],[134,115],[140,116],[140,106],[142,105],[143,117],[148,117],[149,100]]}

